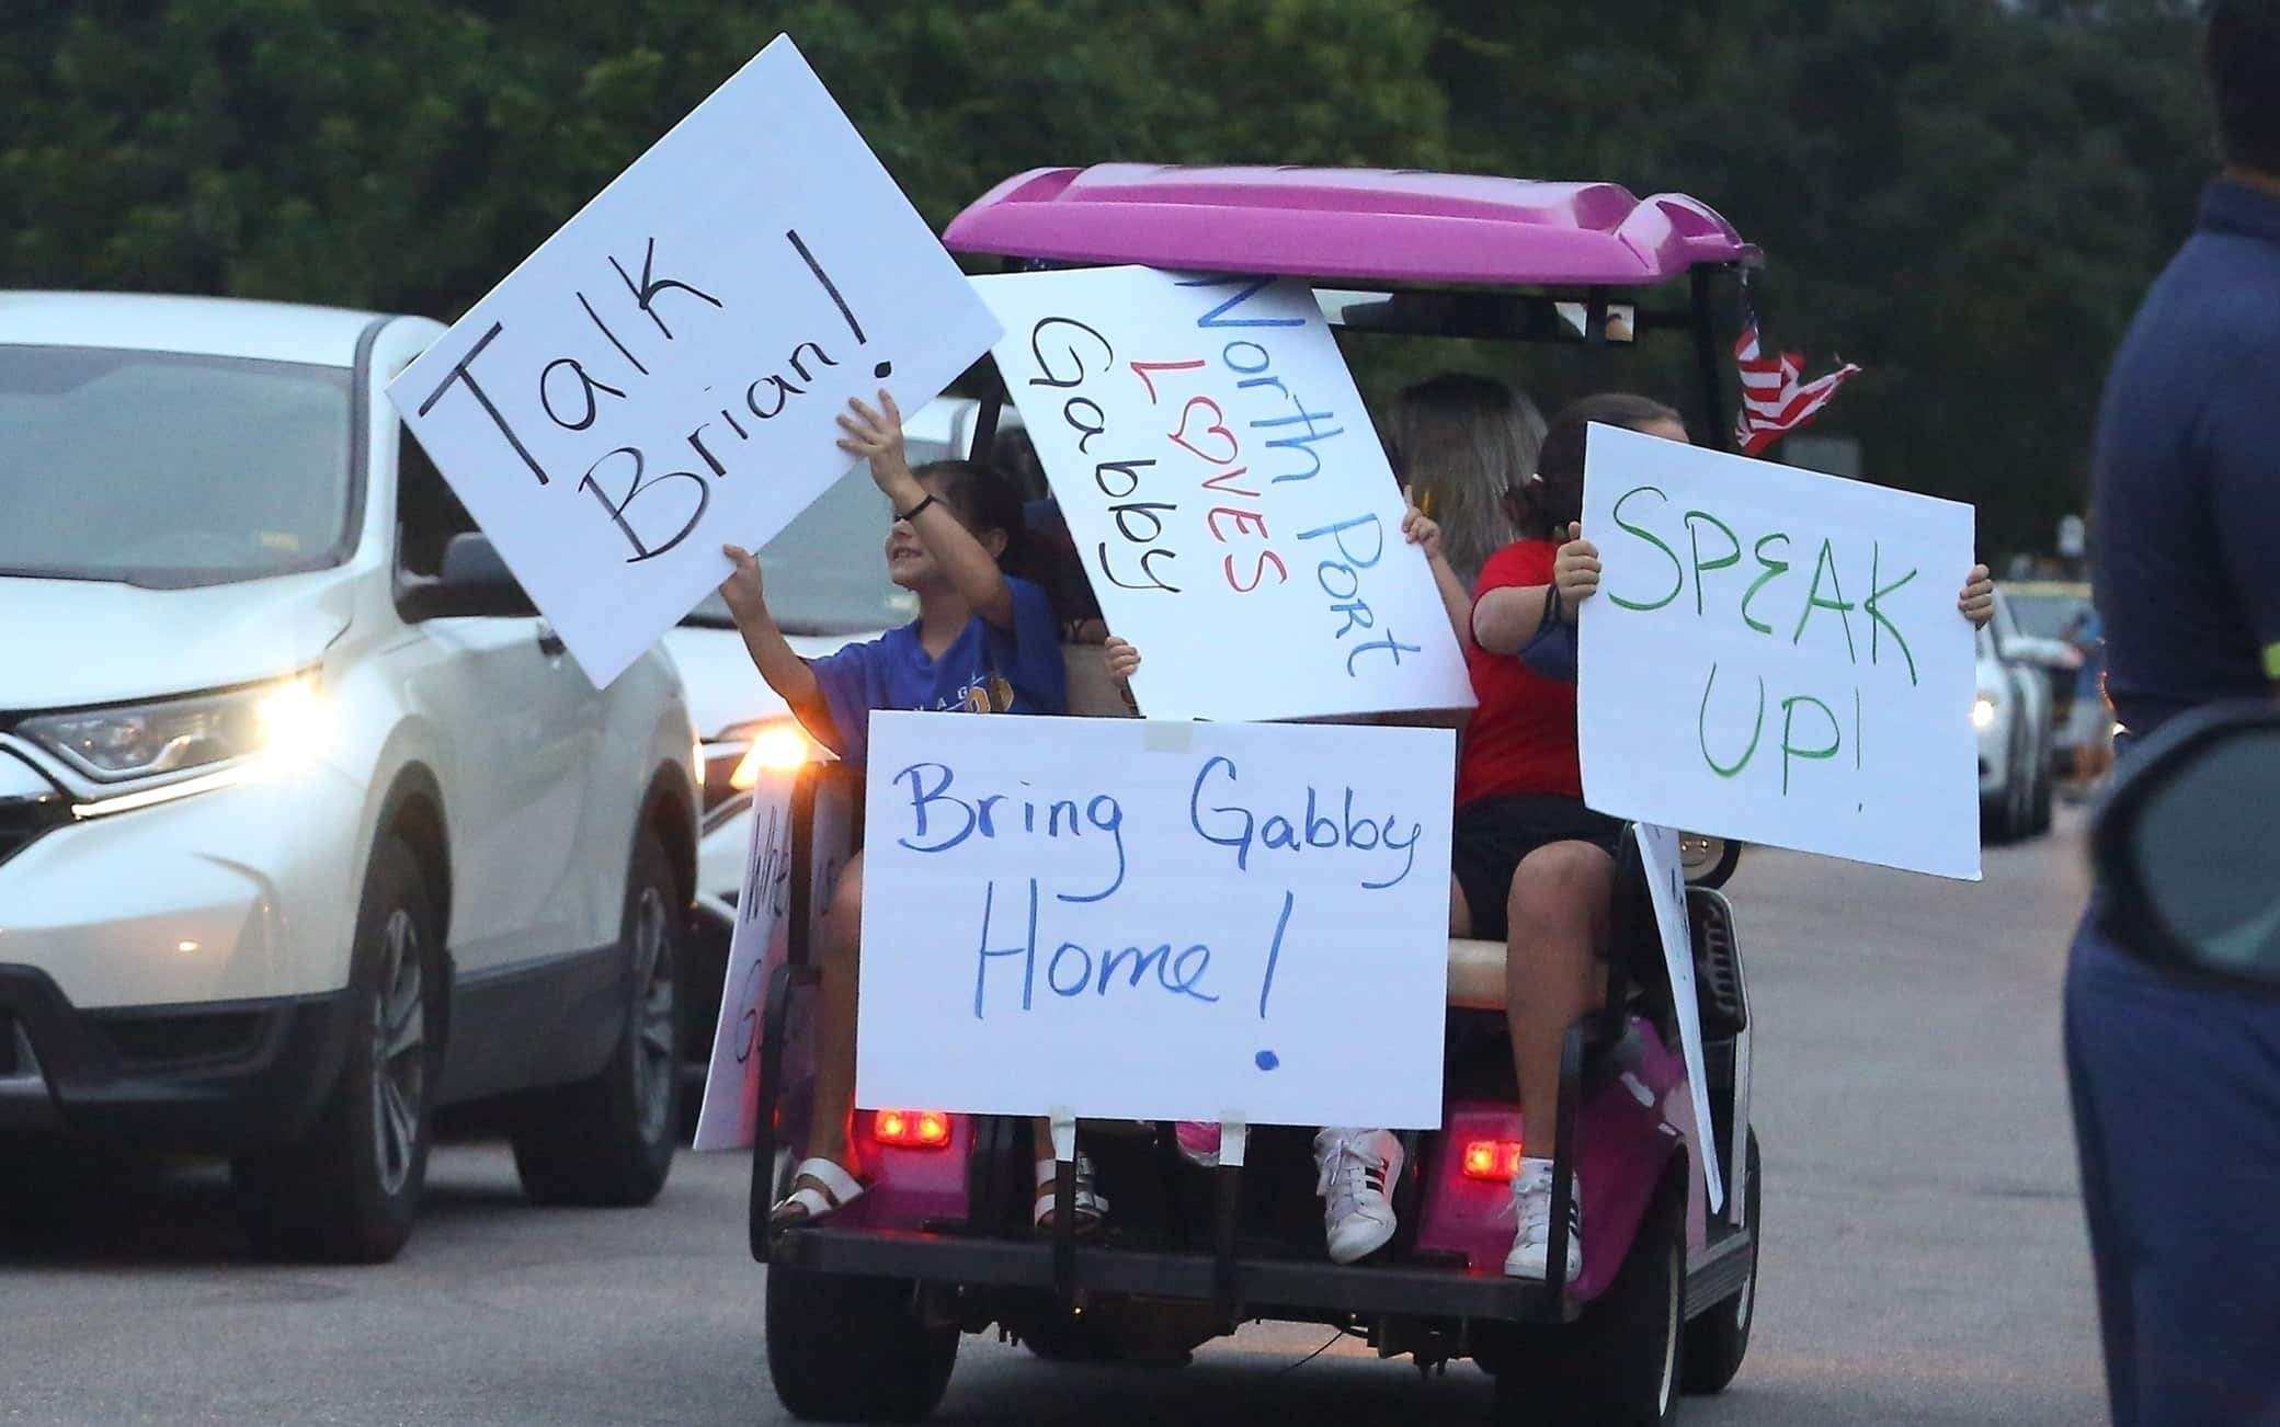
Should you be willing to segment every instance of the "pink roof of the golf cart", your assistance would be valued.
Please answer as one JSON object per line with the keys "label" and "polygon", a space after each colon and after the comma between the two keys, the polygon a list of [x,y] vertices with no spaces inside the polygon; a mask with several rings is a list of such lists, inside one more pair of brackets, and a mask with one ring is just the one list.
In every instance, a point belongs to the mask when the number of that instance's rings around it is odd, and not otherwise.
{"label": "pink roof of the golf cart", "polygon": [[1683,194],[1414,169],[1031,169],[969,205],[953,253],[1370,278],[1651,287],[1758,248]]}

